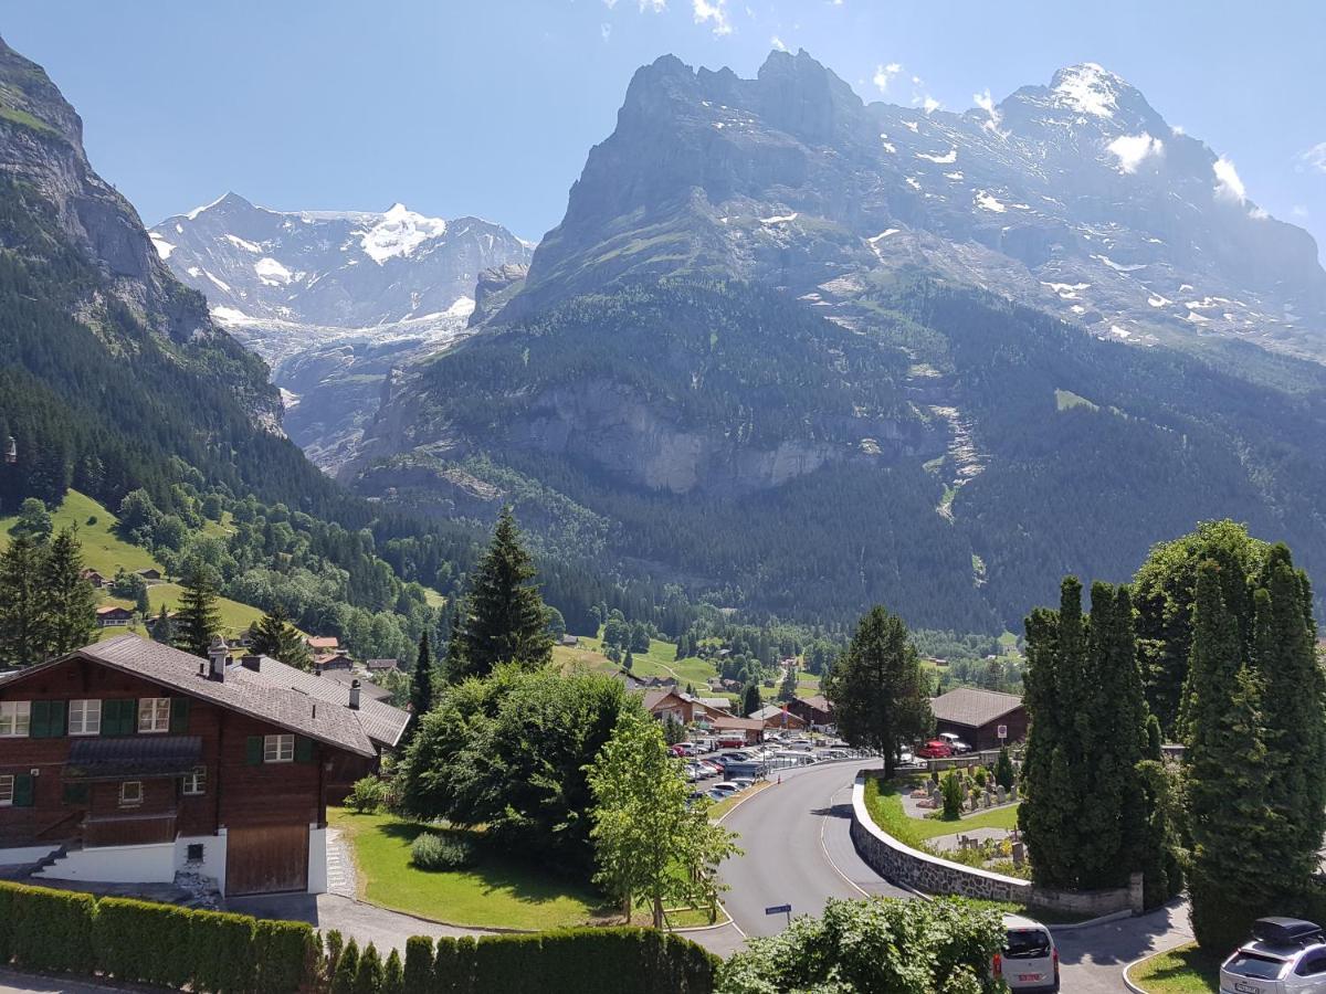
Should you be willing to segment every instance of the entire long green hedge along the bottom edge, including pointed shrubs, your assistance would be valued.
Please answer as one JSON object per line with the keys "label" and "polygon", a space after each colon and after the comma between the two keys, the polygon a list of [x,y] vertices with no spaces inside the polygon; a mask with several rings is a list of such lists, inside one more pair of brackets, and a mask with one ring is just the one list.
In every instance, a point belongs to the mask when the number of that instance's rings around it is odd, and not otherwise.
{"label": "entire long green hedge along the bottom edge, including pointed shrubs", "polygon": [[[403,970],[371,945],[326,953],[301,921],[95,899],[0,881],[0,965],[101,973],[196,994],[709,994],[717,960],[690,940],[639,928],[537,934],[414,936]],[[337,962],[337,958],[339,962]],[[389,957],[390,960],[391,957]],[[361,966],[363,969],[361,969]]]}

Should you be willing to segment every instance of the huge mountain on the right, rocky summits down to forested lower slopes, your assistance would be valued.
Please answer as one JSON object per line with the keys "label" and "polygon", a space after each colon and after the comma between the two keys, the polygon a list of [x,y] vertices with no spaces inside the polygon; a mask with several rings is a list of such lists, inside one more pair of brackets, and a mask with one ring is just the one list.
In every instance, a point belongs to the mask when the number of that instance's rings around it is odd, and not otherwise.
{"label": "huge mountain on the right, rocky summits down to forested lower slopes", "polygon": [[1098,66],[927,115],[660,58],[339,476],[818,620],[1016,627],[1223,516],[1326,567],[1326,284],[1231,175]]}

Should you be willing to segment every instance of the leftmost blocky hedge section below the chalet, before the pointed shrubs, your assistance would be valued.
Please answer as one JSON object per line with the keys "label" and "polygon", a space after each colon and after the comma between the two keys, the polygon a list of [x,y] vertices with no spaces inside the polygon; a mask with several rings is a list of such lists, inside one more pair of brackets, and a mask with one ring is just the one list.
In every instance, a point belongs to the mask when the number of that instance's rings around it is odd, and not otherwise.
{"label": "leftmost blocky hedge section below the chalet, before the pointed shrubs", "polygon": [[0,964],[213,994],[296,994],[314,982],[317,953],[302,921],[0,881]]}

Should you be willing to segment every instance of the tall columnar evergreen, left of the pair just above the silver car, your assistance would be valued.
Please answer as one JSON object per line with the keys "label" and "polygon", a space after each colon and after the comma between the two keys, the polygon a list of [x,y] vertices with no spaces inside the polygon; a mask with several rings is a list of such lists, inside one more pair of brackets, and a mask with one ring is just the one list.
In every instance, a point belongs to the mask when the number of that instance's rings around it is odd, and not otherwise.
{"label": "tall columnar evergreen, left of the pair just above the silver car", "polygon": [[1266,803],[1269,769],[1258,705],[1261,688],[1242,664],[1235,612],[1220,567],[1197,567],[1192,659],[1184,708],[1188,831],[1192,835],[1192,928],[1209,950],[1228,950],[1274,905],[1270,836],[1284,831]]}

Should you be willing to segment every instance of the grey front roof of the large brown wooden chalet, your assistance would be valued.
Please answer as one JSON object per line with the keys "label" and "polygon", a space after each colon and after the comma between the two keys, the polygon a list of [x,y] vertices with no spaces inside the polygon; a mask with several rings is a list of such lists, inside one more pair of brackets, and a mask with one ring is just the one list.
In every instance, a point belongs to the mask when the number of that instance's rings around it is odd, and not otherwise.
{"label": "grey front roof of the large brown wooden chalet", "polygon": [[8,687],[30,673],[42,672],[69,659],[86,659],[133,673],[171,690],[271,722],[347,753],[377,755],[363,725],[355,720],[354,712],[349,708],[313,708],[309,694],[273,685],[244,667],[227,668],[225,680],[212,680],[198,672],[199,665],[207,665],[207,660],[133,634],[117,635],[114,639],[76,649],[68,656],[37,663],[5,679],[4,683]]}

